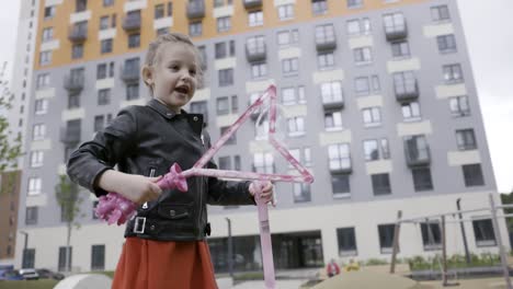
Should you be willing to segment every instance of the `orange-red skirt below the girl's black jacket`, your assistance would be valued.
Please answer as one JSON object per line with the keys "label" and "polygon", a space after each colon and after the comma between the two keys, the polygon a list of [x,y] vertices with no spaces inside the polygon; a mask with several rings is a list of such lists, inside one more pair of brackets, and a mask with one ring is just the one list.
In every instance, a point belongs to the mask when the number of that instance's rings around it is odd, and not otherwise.
{"label": "orange-red skirt below the girl's black jacket", "polygon": [[208,245],[127,238],[112,288],[217,289]]}

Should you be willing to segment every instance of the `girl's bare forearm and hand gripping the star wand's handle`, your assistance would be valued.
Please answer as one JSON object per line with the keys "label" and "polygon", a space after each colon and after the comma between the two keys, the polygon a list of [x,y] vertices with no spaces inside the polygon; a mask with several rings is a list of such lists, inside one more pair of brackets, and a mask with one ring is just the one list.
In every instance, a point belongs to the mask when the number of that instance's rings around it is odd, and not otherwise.
{"label": "girl's bare forearm and hand gripping the star wand's handle", "polygon": [[157,185],[157,182],[160,178],[162,176],[147,177],[109,170],[100,176],[98,185],[107,192],[115,192],[137,205],[141,205],[159,198],[162,189]]}

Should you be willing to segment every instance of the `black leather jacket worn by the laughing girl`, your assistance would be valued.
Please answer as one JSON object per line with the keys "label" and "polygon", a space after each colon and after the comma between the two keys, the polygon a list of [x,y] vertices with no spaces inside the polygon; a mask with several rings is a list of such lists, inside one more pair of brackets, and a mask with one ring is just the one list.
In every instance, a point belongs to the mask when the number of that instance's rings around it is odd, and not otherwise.
{"label": "black leather jacket worn by the laughing girl", "polygon": [[[70,178],[96,196],[106,192],[95,186],[98,177],[117,165],[128,174],[163,175],[174,163],[187,170],[209,148],[203,130],[203,115],[175,114],[156,100],[146,106],[129,106],[119,112],[92,141],[71,153],[67,170]],[[207,164],[216,169],[214,162]],[[206,204],[254,205],[249,182],[228,182],[215,177],[187,178],[189,192],[162,192],[160,198],[137,209],[127,222],[125,236],[161,241],[194,241],[209,233]],[[137,220],[137,231],[134,226]]]}

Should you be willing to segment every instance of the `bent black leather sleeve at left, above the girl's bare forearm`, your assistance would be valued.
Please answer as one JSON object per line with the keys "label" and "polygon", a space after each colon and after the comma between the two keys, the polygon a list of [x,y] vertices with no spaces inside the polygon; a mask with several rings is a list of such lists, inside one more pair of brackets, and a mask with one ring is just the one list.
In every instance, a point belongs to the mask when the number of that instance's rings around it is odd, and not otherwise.
{"label": "bent black leather sleeve at left, above the girl's bare forearm", "polygon": [[137,122],[134,108],[121,111],[112,123],[82,143],[68,160],[67,173],[75,183],[98,197],[107,192],[96,186],[99,176],[126,158],[136,143]]}

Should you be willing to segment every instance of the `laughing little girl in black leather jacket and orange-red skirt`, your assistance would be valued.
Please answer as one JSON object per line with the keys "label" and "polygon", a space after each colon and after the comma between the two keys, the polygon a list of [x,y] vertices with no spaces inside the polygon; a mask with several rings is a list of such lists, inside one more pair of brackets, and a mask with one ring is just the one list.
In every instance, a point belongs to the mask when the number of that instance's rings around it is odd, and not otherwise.
{"label": "laughing little girl in black leather jacket and orange-red skirt", "polygon": [[[182,106],[201,80],[201,58],[182,34],[159,36],[148,48],[142,80],[153,99],[119,112],[68,162],[68,175],[96,196],[116,192],[141,205],[127,222],[113,288],[217,288],[205,236],[206,204],[254,205],[256,183],[187,178],[186,193],[156,184],[173,163],[187,170],[209,148],[203,115]],[[113,167],[117,165],[117,171]],[[209,169],[216,164],[209,162]],[[272,199],[264,183],[262,197]]]}

